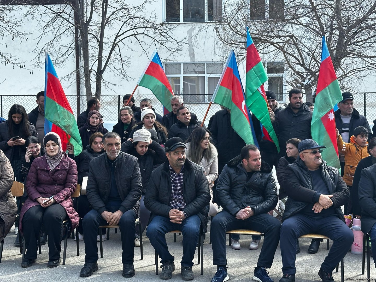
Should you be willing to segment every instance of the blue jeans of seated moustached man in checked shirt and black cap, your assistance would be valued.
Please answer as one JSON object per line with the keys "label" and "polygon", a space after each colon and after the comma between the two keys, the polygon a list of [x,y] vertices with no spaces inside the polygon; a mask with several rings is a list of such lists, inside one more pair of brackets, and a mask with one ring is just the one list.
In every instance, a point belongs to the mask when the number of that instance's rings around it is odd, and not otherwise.
{"label": "blue jeans of seated moustached man in checked shirt and black cap", "polygon": [[186,218],[181,224],[172,223],[168,217],[156,215],[147,227],[146,236],[149,237],[150,244],[161,258],[161,264],[165,264],[173,262],[175,259],[168,252],[165,234],[173,230],[180,230],[183,234],[183,257],[180,263],[182,267],[192,267],[194,252],[199,241],[200,226],[201,220],[197,214]]}

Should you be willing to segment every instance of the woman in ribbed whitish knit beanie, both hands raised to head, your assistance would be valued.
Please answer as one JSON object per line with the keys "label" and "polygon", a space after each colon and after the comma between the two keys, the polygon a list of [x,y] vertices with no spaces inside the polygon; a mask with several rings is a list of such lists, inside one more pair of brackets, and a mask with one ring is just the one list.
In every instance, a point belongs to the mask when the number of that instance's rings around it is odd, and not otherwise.
{"label": "woman in ribbed whitish knit beanie, both hands raised to head", "polygon": [[[126,142],[121,144],[121,152],[135,156],[138,159],[138,165],[141,172],[142,181],[142,196],[140,200],[139,216],[142,224],[143,232],[149,222],[150,211],[145,208],[144,197],[149,185],[149,179],[152,175],[153,168],[166,160],[166,153],[163,147],[156,141],[152,141],[149,130],[139,129],[134,132],[133,139],[129,138]],[[136,230],[135,246],[140,246],[139,237]]]}

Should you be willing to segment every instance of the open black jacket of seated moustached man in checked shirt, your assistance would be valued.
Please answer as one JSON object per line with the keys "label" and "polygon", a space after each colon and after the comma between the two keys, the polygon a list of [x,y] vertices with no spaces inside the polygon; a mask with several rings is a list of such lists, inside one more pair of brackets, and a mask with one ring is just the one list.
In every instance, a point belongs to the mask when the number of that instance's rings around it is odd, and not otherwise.
{"label": "open black jacket of seated moustached man in checked shirt", "polygon": [[[149,222],[156,216],[168,217],[171,200],[171,178],[168,161],[157,167],[150,177],[144,204],[152,212]],[[187,217],[199,215],[203,232],[208,228],[210,192],[204,169],[186,159],[184,165],[183,194]]]}

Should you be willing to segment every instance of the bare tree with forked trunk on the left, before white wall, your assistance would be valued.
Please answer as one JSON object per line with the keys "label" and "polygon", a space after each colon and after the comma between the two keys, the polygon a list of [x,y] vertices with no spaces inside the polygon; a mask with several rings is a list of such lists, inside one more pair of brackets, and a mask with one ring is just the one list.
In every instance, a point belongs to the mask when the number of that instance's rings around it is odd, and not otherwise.
{"label": "bare tree with forked trunk on the left, before white wall", "polygon": [[[92,97],[92,85],[95,85],[95,96],[100,98],[102,86],[114,85],[106,79],[106,72],[128,80],[132,78],[127,69],[136,50],[141,48],[144,54],[149,54],[155,48],[162,48],[169,57],[182,50],[186,39],[175,38],[174,26],[159,22],[154,12],[146,11],[153,2],[73,0],[73,3],[67,1],[67,5],[30,7],[24,14],[25,19],[36,18],[40,25],[36,61],[42,61],[39,50],[50,50],[56,65],[73,58],[74,42],[67,42],[66,38],[74,38],[77,23],[86,96]],[[41,43],[44,38],[49,38],[47,43]],[[73,77],[75,71],[68,77]]]}

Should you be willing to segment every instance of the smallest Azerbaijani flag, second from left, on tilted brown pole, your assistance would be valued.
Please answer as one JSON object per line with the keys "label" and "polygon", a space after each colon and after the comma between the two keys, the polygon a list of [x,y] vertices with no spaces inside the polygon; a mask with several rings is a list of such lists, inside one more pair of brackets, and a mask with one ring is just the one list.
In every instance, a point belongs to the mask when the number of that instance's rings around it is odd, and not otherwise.
{"label": "smallest Azerbaijani flag, second from left, on tilted brown pole", "polygon": [[169,112],[172,111],[171,98],[174,96],[174,92],[164,72],[157,49],[154,50],[137,85],[150,89],[159,102],[161,102]]}

